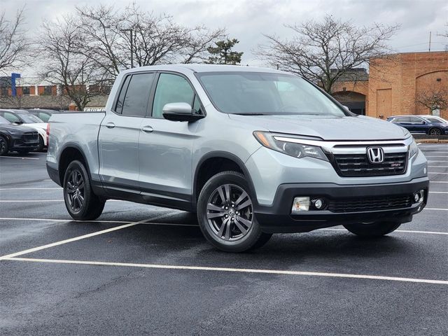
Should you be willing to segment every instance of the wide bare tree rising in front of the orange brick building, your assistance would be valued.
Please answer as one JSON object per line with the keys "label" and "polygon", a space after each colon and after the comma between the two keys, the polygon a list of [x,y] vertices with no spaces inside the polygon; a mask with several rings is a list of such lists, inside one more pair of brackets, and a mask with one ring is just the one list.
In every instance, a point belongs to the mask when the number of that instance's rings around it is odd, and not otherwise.
{"label": "wide bare tree rising in front of the orange brick building", "polygon": [[398,29],[379,24],[356,27],[332,16],[325,16],[323,22],[310,20],[286,27],[294,31],[293,38],[265,35],[268,44],[258,45],[255,55],[267,59],[271,66],[312,80],[326,92],[331,92],[332,85],[344,74],[367,66],[371,57],[384,55],[386,41]]}

